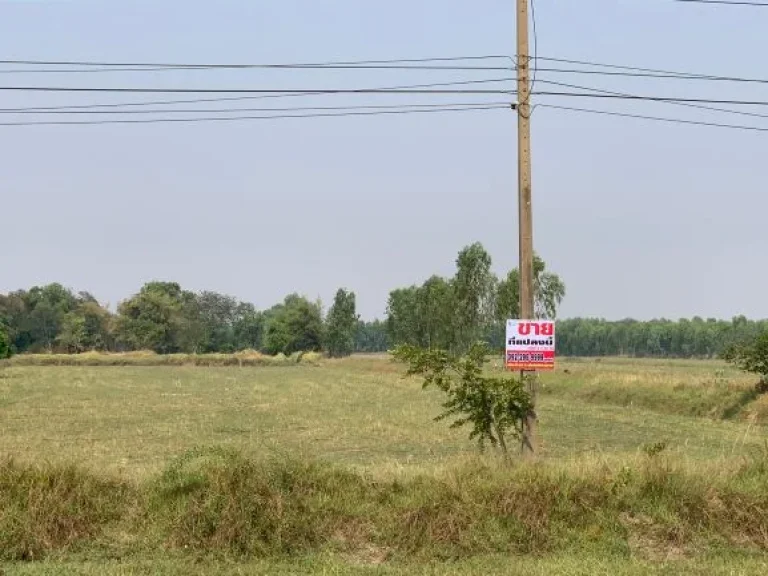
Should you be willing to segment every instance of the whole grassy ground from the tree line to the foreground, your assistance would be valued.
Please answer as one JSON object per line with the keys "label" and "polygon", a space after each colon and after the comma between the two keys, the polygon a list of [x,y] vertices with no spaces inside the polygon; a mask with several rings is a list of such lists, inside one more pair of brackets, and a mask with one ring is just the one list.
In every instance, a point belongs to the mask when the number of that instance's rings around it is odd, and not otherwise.
{"label": "whole grassy ground from the tree line to the foreground", "polygon": [[[41,485],[87,478],[95,491],[88,502],[102,492],[125,500],[114,513],[112,504],[95,509],[103,526],[74,544],[57,547],[49,536],[34,562],[6,555],[3,574],[768,573],[768,402],[754,394],[753,378],[718,362],[566,361],[541,379],[541,460],[507,469],[479,456],[466,431],[433,422],[439,394],[401,374],[383,357],[0,368],[0,456],[14,459],[4,478],[26,486],[19,500],[5,501],[0,530],[16,534],[31,514],[23,501],[47,494]],[[666,449],[651,458],[646,447],[655,443]],[[158,503],[169,463],[201,447],[234,450],[224,459],[233,458],[239,476],[205,451],[195,464],[202,472],[179,474],[221,488],[216,502],[232,486],[244,488],[232,492],[238,501],[272,491],[266,502],[277,498],[280,514],[270,526],[285,530],[279,546],[262,535],[247,542],[267,542],[264,554],[244,557],[232,548],[244,528],[236,537],[212,529],[213,540],[190,528],[197,536],[180,538],[174,522],[189,520],[190,510],[222,513],[205,499],[192,508]],[[295,461],[319,468],[275,464]],[[304,488],[285,488],[279,479],[292,474]],[[549,491],[533,497],[540,508],[526,516],[529,484]],[[301,520],[305,508],[289,523],[287,498],[296,494],[319,524]],[[252,520],[224,510],[240,524]],[[197,530],[200,517],[192,518]],[[325,545],[319,535],[331,521]],[[306,545],[286,552],[305,523],[314,530],[301,532]]]}

